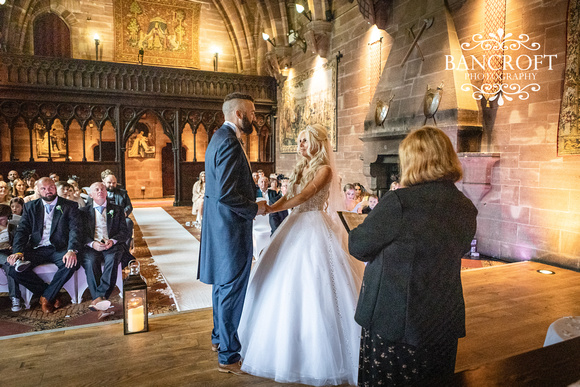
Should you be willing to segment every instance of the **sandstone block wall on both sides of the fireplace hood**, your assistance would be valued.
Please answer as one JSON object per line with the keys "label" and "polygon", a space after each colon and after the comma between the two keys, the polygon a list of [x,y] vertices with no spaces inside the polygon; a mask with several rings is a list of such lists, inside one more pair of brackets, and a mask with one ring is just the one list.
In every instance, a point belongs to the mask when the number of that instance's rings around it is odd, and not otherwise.
{"label": "sandstone block wall on both sides of the fireplace hood", "polygon": [[[337,2],[332,24],[331,54],[340,50],[338,152],[336,160],[343,182],[362,180],[365,114],[369,110],[368,43],[372,26],[361,17],[356,4]],[[483,33],[484,2],[467,0],[452,12],[461,43]],[[514,0],[507,2],[506,33],[527,34],[538,42],[538,54],[557,55],[552,70],[544,61],[534,71],[540,91],[526,100],[515,97],[503,106],[480,107],[484,124],[483,153],[499,162],[490,164],[490,178],[483,197],[471,195],[479,210],[480,253],[507,260],[540,260],[580,269],[580,160],[557,155],[557,125],[562,94],[567,1]],[[389,54],[389,36],[382,31],[383,62]],[[517,56],[522,50],[506,52]],[[469,54],[464,52],[464,54]],[[294,49],[292,72],[300,73],[316,63],[313,54]],[[383,73],[383,77],[387,74]],[[525,83],[525,82],[524,82]],[[522,86],[524,86],[522,84]],[[443,97],[445,98],[445,97]],[[279,128],[278,128],[279,130]],[[277,170],[291,171],[296,155],[281,154],[277,144]],[[482,157],[482,160],[485,158]],[[371,161],[372,162],[372,161]],[[488,161],[482,161],[484,164]],[[486,173],[481,162],[464,163],[466,176]],[[468,190],[465,190],[469,195]]]}

